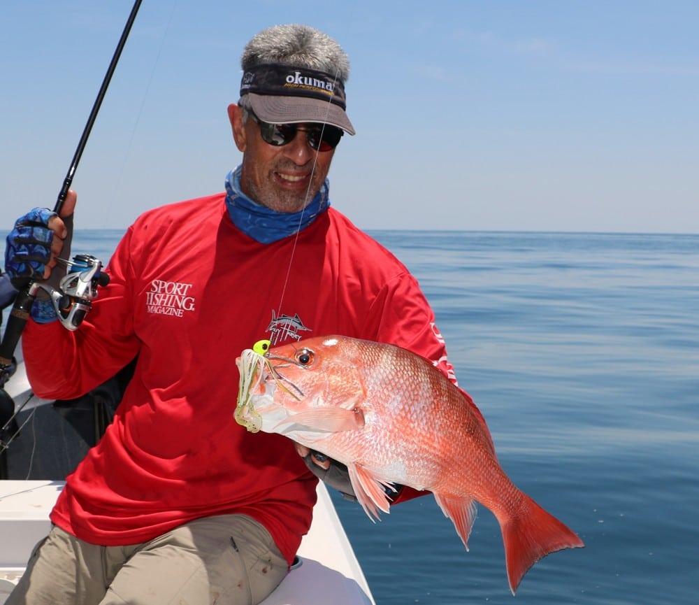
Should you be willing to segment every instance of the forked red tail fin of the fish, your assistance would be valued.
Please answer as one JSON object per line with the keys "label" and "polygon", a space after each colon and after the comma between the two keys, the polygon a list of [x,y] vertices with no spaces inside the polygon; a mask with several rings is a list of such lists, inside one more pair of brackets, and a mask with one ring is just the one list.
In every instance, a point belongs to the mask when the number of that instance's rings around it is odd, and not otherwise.
{"label": "forked red tail fin of the fish", "polygon": [[[563,548],[582,548],[583,541],[554,515],[526,494],[516,517],[500,522],[505,543],[507,580],[512,595],[528,569],[538,560]],[[499,520],[499,519],[498,519]]]}

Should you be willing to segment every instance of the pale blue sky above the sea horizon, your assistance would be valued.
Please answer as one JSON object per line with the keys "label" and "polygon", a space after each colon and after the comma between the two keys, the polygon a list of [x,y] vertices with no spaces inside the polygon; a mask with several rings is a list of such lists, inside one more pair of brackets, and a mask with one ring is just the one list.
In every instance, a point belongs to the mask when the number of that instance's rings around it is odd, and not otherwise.
{"label": "pale blue sky above the sea horizon", "polygon": [[[0,6],[0,229],[55,204],[131,6]],[[352,61],[331,201],[359,227],[699,233],[699,3],[674,0],[144,0],[76,224],[222,190],[240,52],[284,22]]]}

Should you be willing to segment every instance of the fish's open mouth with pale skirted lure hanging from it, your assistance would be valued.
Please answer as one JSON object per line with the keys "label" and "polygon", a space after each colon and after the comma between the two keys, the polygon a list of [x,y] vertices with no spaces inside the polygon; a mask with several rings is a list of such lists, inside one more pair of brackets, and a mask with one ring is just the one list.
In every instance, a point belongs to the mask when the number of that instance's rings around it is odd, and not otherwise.
{"label": "fish's open mouth with pale skirted lure hanging from it", "polygon": [[[272,360],[282,364],[273,365]],[[293,363],[293,360],[287,360],[285,357],[262,355],[252,349],[245,349],[240,353],[236,360],[240,370],[238,401],[233,413],[233,418],[239,425],[252,433],[262,429],[262,415],[255,409],[255,402],[273,401],[276,387],[282,388],[298,401],[303,398],[303,391],[279,372],[280,368]]]}

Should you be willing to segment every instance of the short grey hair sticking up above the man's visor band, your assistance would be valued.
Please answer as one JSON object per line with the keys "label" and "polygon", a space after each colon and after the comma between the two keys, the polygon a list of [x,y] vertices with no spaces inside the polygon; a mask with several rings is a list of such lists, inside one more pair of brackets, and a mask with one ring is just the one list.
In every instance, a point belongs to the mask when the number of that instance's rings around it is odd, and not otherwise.
{"label": "short grey hair sticking up above the man's visor band", "polygon": [[243,50],[240,66],[245,71],[266,63],[317,69],[343,84],[349,78],[347,53],[333,38],[308,25],[274,25],[254,36]]}

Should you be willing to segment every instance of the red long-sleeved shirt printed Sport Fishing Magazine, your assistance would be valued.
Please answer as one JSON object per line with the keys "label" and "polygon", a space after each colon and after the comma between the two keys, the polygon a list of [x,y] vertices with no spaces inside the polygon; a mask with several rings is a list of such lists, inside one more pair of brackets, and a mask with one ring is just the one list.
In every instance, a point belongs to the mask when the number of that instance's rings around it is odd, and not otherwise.
{"label": "red long-sleeved shirt printed Sport Fishing Magazine", "polygon": [[224,194],[164,206],[127,230],[106,272],[77,332],[29,322],[23,336],[29,380],[46,399],[78,397],[138,354],[114,421],[51,514],[89,543],[140,543],[243,513],[293,560],[317,480],[291,441],[233,420],[236,357],[260,339],[394,343],[453,378],[417,280],[333,208],[298,240],[261,244],[233,225]]}

